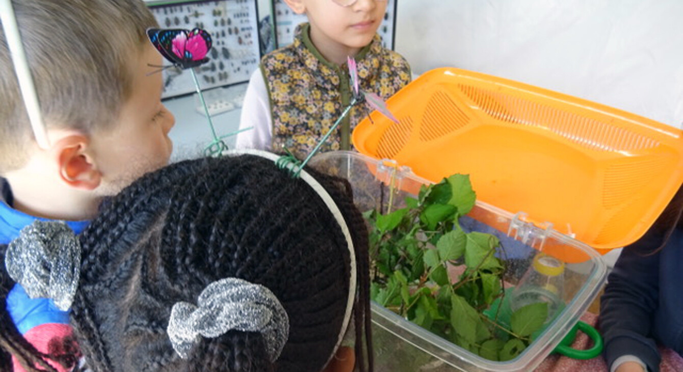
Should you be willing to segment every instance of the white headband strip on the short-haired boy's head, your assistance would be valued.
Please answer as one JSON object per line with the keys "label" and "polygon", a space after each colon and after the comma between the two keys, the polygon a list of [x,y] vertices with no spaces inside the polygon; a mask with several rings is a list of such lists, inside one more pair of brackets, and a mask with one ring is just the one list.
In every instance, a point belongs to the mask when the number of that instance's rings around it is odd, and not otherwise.
{"label": "white headband strip on the short-haired boy's head", "polygon": [[19,81],[21,96],[24,98],[26,111],[29,113],[33,135],[36,137],[38,146],[46,149],[50,147],[50,142],[47,138],[42,116],[40,115],[38,95],[36,94],[36,87],[33,86],[33,78],[31,78],[29,64],[26,61],[24,46],[21,44],[19,27],[16,24],[14,9],[12,8],[12,0],[0,0],[0,20],[2,20],[5,38],[7,39],[7,44],[10,48],[10,53],[12,54],[14,71],[16,72],[16,77]]}

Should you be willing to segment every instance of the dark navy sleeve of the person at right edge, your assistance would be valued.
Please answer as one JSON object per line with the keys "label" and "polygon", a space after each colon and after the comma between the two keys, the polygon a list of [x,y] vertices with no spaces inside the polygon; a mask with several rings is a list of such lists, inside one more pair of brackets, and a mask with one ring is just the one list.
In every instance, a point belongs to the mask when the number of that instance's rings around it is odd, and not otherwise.
{"label": "dark navy sleeve of the person at right edge", "polygon": [[659,370],[652,319],[658,306],[661,252],[651,254],[657,248],[654,244],[645,239],[624,248],[607,278],[600,298],[599,328],[608,368],[619,356],[633,355],[649,371]]}

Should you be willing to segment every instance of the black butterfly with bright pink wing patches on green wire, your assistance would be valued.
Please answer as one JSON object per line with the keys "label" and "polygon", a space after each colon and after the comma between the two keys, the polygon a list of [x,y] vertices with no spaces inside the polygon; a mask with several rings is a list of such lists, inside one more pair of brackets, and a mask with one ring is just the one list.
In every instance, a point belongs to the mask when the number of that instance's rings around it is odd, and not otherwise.
{"label": "black butterfly with bright pink wing patches on green wire", "polygon": [[150,42],[173,66],[185,70],[208,62],[211,35],[203,29],[148,29]]}

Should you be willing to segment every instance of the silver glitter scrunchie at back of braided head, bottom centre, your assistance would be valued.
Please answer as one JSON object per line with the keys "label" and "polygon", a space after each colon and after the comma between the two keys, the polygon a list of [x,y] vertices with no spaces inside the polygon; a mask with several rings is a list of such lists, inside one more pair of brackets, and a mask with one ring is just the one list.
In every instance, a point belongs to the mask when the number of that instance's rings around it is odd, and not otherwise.
{"label": "silver glitter scrunchie at back of braided head, bottom centre", "polygon": [[167,333],[173,349],[187,358],[199,336],[219,337],[228,330],[261,332],[270,361],[275,361],[289,337],[290,321],[270,289],[239,278],[224,278],[201,291],[197,306],[176,302]]}

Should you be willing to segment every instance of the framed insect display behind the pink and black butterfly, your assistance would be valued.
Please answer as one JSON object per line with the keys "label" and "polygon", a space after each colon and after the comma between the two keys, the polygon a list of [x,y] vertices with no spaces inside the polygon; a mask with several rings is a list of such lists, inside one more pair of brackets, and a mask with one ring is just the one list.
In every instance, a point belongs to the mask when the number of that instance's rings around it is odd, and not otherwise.
{"label": "framed insect display behind the pink and black butterfly", "polygon": [[[210,49],[206,63],[194,68],[201,89],[249,81],[260,61],[256,0],[147,1],[162,29],[208,33]],[[175,65],[175,66],[173,66]],[[164,61],[162,98],[195,92],[189,72],[178,63]]]}

